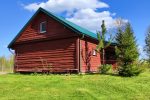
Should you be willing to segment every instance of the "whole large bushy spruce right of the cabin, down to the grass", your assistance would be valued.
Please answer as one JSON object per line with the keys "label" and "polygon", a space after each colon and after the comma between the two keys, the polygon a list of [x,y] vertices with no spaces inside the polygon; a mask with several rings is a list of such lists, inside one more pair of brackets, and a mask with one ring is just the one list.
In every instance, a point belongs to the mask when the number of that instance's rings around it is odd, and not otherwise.
{"label": "whole large bushy spruce right of the cabin, down to the grass", "polygon": [[[138,46],[136,44],[136,37],[131,28],[131,25],[127,23],[125,30],[118,28],[116,34],[116,48],[117,60],[119,62],[119,75],[121,76],[133,76],[139,71],[134,65],[134,62],[138,60]],[[137,69],[137,70],[136,70]]]}

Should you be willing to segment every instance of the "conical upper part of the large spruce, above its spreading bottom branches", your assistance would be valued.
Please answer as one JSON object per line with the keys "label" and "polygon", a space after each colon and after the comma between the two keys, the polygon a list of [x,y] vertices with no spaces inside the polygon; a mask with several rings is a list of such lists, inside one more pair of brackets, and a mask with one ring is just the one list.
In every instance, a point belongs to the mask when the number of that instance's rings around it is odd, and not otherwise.
{"label": "conical upper part of the large spruce, above its spreading bottom branches", "polygon": [[138,60],[138,45],[136,44],[136,37],[129,23],[126,25],[124,32],[122,30],[118,31],[116,42],[118,44],[118,59],[123,65],[132,64]]}

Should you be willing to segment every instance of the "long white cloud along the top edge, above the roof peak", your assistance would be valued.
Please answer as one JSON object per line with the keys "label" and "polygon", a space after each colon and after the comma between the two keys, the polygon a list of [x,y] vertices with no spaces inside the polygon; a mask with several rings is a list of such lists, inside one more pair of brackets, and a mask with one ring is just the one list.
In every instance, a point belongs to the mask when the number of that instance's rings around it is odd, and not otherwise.
{"label": "long white cloud along the top edge, above the roof peak", "polygon": [[107,8],[104,2],[99,0],[48,0],[47,2],[32,3],[26,5],[24,8],[30,11],[35,11],[39,7],[45,8],[53,12],[73,11],[85,8]]}

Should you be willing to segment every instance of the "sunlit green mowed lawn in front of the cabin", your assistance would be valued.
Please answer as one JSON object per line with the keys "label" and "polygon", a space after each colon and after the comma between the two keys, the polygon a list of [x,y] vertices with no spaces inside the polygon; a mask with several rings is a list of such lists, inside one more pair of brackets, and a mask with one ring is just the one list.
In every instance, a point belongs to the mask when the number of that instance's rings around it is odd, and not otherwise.
{"label": "sunlit green mowed lawn in front of the cabin", "polygon": [[0,75],[0,100],[150,100],[150,72],[112,75]]}

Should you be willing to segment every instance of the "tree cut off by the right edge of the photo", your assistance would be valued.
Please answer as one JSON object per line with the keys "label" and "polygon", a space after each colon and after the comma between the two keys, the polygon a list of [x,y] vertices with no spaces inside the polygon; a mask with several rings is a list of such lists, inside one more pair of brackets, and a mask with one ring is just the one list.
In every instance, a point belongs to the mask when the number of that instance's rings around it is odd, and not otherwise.
{"label": "tree cut off by the right edge of the photo", "polygon": [[150,27],[148,28],[148,31],[146,33],[145,44],[146,45],[144,51],[146,52],[147,55],[147,61],[150,64]]}

